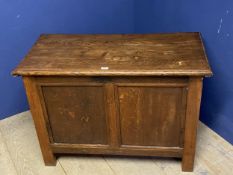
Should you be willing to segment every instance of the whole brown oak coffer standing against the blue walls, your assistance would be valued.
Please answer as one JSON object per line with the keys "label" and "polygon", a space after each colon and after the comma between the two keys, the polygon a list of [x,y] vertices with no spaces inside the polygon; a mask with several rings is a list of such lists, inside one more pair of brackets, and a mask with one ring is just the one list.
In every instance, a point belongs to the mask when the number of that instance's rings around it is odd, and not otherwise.
{"label": "whole brown oak coffer standing against the blue walls", "polygon": [[212,74],[199,33],[45,34],[12,74],[23,77],[46,165],[59,153],[108,154],[179,157],[193,170]]}

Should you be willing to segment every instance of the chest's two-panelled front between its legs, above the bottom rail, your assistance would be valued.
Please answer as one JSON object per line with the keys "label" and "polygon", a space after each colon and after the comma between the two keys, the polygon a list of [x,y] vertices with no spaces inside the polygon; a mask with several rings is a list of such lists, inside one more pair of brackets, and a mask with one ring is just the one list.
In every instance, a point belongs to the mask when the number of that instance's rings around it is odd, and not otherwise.
{"label": "chest's two-panelled front between its legs, above the bottom rail", "polygon": [[182,148],[186,86],[186,78],[37,78],[51,143],[87,146]]}

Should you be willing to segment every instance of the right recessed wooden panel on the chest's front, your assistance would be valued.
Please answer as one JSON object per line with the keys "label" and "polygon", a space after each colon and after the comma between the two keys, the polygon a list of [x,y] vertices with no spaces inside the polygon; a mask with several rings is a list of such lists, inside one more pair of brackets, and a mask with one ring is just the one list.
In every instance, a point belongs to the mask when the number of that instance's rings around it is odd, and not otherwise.
{"label": "right recessed wooden panel on the chest's front", "polygon": [[122,145],[183,147],[184,87],[119,86]]}

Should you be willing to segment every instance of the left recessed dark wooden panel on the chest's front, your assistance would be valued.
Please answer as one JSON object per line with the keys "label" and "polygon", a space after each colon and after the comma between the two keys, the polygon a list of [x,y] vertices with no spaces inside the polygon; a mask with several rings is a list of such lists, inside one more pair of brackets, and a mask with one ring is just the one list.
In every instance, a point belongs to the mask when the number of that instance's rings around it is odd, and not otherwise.
{"label": "left recessed dark wooden panel on the chest's front", "polygon": [[103,86],[41,86],[54,143],[107,145]]}

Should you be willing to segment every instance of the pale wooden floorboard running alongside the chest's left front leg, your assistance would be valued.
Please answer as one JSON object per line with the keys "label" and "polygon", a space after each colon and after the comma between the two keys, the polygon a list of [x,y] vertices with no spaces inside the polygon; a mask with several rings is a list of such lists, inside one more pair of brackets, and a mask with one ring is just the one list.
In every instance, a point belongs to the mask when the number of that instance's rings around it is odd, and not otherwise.
{"label": "pale wooden floorboard running alongside the chest's left front leg", "polygon": [[29,112],[24,112],[0,122],[1,133],[17,174],[65,175],[59,163],[57,166],[44,166],[35,127],[29,116]]}

